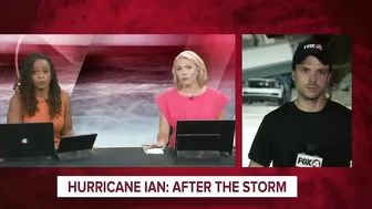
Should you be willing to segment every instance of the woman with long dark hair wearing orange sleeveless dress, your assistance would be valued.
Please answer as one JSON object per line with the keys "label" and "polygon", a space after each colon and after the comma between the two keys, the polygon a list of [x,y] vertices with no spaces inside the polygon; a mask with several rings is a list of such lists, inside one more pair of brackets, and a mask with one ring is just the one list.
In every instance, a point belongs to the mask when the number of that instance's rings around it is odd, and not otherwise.
{"label": "woman with long dark hair wearing orange sleeveless dress", "polygon": [[41,53],[28,55],[10,100],[8,124],[53,123],[54,148],[61,137],[73,136],[71,97],[61,90],[54,65]]}

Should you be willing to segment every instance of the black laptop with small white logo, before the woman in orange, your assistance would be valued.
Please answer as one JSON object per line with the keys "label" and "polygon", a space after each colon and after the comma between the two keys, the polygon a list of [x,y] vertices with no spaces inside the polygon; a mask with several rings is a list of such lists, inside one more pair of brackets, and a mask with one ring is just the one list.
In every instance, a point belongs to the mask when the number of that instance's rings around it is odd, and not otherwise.
{"label": "black laptop with small white logo, before the woman in orange", "polygon": [[54,156],[52,123],[0,124],[0,159]]}

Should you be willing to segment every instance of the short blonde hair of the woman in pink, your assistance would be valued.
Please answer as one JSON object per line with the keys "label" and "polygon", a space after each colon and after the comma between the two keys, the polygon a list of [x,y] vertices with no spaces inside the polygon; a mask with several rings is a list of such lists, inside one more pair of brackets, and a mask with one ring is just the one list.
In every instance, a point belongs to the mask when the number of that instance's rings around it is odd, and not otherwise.
{"label": "short blonde hair of the woman in pink", "polygon": [[182,88],[182,84],[180,84],[180,82],[177,77],[177,73],[176,73],[176,62],[179,59],[187,59],[188,61],[190,61],[192,63],[194,63],[196,65],[197,70],[199,71],[199,76],[197,77],[197,82],[198,82],[199,86],[204,86],[207,83],[207,80],[208,80],[207,67],[206,67],[204,61],[202,60],[202,58],[199,55],[197,55],[197,53],[195,53],[193,51],[183,51],[176,56],[176,59],[173,62],[173,67],[172,67],[173,81],[176,84],[177,88],[178,90]]}

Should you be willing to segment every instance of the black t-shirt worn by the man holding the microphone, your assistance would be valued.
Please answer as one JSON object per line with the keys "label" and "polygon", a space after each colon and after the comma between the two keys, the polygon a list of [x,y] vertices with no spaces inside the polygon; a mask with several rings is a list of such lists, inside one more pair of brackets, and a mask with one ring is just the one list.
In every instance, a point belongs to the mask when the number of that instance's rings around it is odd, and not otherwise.
{"label": "black t-shirt worn by the man holding the microphone", "polygon": [[347,167],[351,160],[351,109],[328,101],[320,112],[299,109],[293,102],[267,114],[248,157],[268,167],[294,167],[309,144],[323,158],[322,167]]}

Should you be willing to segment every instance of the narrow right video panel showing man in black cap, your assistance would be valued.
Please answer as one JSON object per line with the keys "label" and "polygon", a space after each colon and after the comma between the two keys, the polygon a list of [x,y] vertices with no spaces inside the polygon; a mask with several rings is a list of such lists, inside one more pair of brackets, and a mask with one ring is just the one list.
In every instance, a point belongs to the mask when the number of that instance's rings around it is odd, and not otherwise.
{"label": "narrow right video panel showing man in black cap", "polygon": [[242,36],[242,166],[351,166],[350,35]]}

